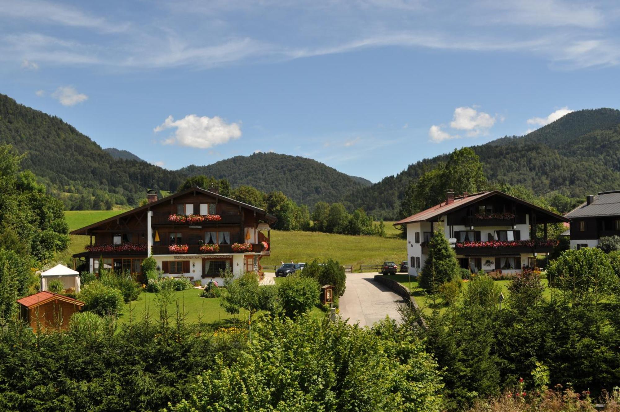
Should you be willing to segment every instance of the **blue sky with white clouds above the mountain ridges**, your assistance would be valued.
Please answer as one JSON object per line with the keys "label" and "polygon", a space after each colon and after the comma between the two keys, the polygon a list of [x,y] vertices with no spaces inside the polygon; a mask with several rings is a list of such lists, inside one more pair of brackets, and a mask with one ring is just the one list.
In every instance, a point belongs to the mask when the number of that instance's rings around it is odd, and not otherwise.
{"label": "blue sky with white clouds above the mountain ridges", "polygon": [[255,151],[379,181],[620,107],[614,2],[0,0],[0,92],[166,168]]}

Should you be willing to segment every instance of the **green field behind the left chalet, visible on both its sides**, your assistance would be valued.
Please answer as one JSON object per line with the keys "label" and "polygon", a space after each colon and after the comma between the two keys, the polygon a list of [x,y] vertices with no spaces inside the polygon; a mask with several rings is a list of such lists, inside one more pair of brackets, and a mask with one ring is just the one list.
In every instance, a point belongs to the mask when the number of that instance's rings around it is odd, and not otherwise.
{"label": "green field behind the left chalet, visible on both its sides", "polygon": [[[118,210],[77,210],[64,212],[70,230],[81,228],[121,213]],[[304,231],[271,231],[272,253],[261,259],[263,266],[280,266],[280,262],[311,262],[336,259],[343,265],[381,264],[383,261],[400,262],[407,259],[407,241],[398,238],[398,230],[386,222],[387,238],[378,236],[334,235]],[[72,254],[84,251],[88,236],[71,235],[67,253],[60,258],[66,262]]]}

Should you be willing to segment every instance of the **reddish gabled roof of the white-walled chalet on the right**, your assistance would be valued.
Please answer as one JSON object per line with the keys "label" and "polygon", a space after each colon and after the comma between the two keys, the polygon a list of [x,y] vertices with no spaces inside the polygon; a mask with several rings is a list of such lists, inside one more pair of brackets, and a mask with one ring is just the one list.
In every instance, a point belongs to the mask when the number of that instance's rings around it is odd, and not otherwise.
{"label": "reddish gabled roof of the white-walled chalet on the right", "polygon": [[505,194],[504,192],[500,192],[499,190],[490,190],[489,192],[479,192],[479,193],[467,195],[467,197],[464,197],[464,196],[454,197],[454,202],[452,203],[448,204],[446,202],[442,202],[438,205],[428,208],[427,210],[422,210],[422,212],[415,213],[415,215],[399,220],[398,222],[394,223],[394,225],[395,226],[404,225],[406,223],[414,223],[414,222],[430,222],[431,220],[438,218],[442,215],[445,215],[446,213],[454,212],[462,207],[466,207],[467,205],[474,204],[478,202],[479,200],[487,199],[488,197],[491,197],[494,195],[500,195],[502,197],[505,197],[506,199],[513,200],[527,207],[531,207],[538,212],[557,218],[558,222],[569,221],[567,218],[562,217],[558,215],[557,213],[553,213],[542,207],[526,202],[525,200],[521,200],[518,197]]}

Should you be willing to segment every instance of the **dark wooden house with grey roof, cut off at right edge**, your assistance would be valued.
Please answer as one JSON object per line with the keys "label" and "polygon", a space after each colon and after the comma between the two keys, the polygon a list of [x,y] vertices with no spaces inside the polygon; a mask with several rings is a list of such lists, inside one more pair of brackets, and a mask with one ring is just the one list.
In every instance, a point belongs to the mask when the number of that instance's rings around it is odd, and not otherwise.
{"label": "dark wooden house with grey roof, cut off at right edge", "polygon": [[566,217],[571,249],[593,248],[604,236],[620,235],[620,190],[588,195]]}

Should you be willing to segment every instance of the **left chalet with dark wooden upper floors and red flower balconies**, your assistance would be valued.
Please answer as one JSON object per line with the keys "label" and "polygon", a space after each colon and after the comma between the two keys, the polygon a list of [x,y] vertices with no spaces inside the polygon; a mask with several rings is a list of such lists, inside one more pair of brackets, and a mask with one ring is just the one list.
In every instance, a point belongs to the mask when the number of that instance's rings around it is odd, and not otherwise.
{"label": "left chalet with dark wooden upper floors and red flower balconies", "polygon": [[141,274],[150,255],[164,275],[203,283],[221,280],[224,269],[262,273],[260,259],[270,254],[270,225],[277,222],[265,210],[216,188],[192,187],[159,200],[149,192],[147,199],[146,205],[72,231],[91,236],[86,251],[73,255],[76,267]]}

